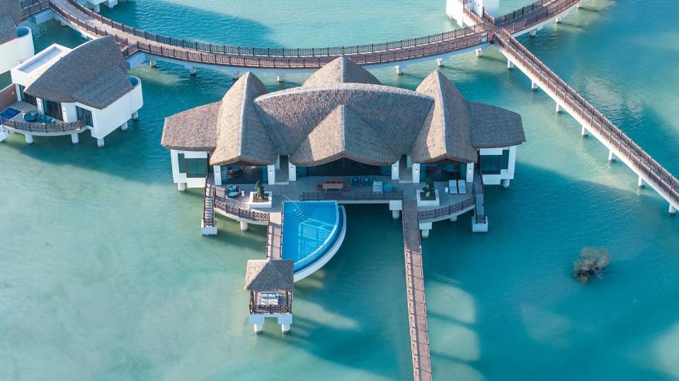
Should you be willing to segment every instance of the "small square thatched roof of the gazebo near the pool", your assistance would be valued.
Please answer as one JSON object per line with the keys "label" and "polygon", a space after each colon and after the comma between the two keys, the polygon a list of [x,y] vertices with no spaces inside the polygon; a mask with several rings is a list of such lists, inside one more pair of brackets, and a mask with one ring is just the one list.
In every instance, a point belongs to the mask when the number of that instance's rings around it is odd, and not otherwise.
{"label": "small square thatched roof of the gazebo near the pool", "polygon": [[247,291],[292,291],[295,262],[292,259],[250,259],[245,271]]}

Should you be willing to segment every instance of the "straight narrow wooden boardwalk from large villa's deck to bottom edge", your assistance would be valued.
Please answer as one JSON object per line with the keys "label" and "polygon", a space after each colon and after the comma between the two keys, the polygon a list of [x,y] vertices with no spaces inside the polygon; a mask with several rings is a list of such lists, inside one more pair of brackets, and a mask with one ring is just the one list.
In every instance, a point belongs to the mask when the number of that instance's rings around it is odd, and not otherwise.
{"label": "straight narrow wooden boardwalk from large villa's deck to bottom edge", "polygon": [[418,381],[431,380],[422,247],[420,245],[420,228],[417,221],[417,204],[414,199],[404,200],[403,245],[406,259],[406,295],[408,298],[410,345],[413,354],[413,376]]}

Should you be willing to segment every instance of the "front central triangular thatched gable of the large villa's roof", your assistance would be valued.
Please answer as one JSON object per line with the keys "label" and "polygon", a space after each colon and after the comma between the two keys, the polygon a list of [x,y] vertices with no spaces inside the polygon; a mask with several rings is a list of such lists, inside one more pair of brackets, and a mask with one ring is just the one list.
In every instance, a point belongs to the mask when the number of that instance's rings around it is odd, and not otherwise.
{"label": "front central triangular thatched gable of the large villa's roof", "polygon": [[341,158],[368,165],[391,165],[400,157],[370,124],[345,105],[338,105],[299,144],[289,160],[302,167]]}

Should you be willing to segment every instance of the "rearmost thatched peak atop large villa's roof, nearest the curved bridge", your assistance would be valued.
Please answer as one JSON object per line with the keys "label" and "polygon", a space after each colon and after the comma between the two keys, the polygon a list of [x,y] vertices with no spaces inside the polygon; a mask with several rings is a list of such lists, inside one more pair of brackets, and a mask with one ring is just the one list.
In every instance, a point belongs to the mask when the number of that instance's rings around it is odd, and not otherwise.
{"label": "rearmost thatched peak atop large villa's roof, nearest the curved bridge", "polygon": [[335,83],[368,83],[372,85],[381,85],[380,81],[375,78],[370,71],[367,71],[351,61],[350,58],[342,56],[333,59],[329,64],[316,70],[302,87],[318,87],[328,86]]}

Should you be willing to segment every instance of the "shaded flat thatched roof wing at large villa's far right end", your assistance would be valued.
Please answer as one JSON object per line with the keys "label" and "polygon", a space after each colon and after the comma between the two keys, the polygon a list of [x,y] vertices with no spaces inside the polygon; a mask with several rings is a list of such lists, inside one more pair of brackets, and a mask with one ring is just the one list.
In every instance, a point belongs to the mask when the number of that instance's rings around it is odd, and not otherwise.
{"label": "shaded flat thatched roof wing at large villa's far right end", "polygon": [[518,146],[526,141],[521,115],[516,112],[467,101],[467,113],[472,124],[472,146],[475,148]]}

